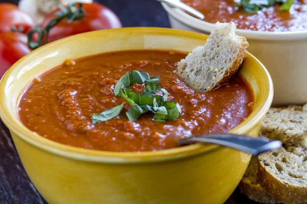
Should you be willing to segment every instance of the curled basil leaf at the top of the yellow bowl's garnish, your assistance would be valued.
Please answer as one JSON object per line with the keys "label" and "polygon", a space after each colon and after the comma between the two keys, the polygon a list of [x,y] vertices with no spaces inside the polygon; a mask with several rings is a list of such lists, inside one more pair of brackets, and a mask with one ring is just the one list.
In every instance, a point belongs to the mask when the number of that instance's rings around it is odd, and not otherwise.
{"label": "curled basil leaf at the top of the yellow bowl's garnish", "polygon": [[146,80],[150,80],[149,74],[145,71],[129,71],[123,75],[114,87],[114,94],[121,96],[121,89],[133,85],[134,83],[144,84]]}

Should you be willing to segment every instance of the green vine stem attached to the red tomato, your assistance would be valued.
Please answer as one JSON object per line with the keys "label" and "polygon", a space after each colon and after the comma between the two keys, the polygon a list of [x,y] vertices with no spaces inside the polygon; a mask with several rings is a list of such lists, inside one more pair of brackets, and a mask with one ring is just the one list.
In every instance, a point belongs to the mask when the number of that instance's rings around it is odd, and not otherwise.
{"label": "green vine stem attached to the red tomato", "polygon": [[[62,19],[67,18],[68,22],[81,19],[85,16],[85,11],[81,3],[69,4],[67,8],[60,8],[61,11],[57,12],[57,16],[52,18],[44,28],[36,27],[28,31],[28,46],[32,49],[40,47],[45,38],[45,44],[48,43],[49,31],[55,27]],[[37,33],[38,38],[36,42],[33,41],[33,35]]]}

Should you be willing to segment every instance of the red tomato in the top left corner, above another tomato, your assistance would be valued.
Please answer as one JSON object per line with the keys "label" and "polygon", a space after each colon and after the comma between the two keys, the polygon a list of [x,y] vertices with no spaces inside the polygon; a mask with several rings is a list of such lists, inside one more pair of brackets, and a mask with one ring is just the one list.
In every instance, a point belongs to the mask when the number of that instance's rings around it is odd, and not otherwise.
{"label": "red tomato in the top left corner, above another tomato", "polygon": [[11,27],[24,28],[24,33],[34,27],[33,19],[25,12],[20,11],[13,4],[0,3],[0,33],[11,32]]}

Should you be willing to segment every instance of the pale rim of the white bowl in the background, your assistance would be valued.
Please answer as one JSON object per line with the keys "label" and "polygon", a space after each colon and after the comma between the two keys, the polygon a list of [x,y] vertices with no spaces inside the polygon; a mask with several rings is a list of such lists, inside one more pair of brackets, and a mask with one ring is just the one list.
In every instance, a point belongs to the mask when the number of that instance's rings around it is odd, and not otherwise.
{"label": "pale rim of the white bowl in the background", "polygon": [[[173,18],[176,18],[180,22],[186,24],[188,27],[192,27],[196,30],[206,33],[210,33],[215,27],[213,23],[195,18],[178,8],[170,7],[163,2],[161,4],[168,13],[168,15],[171,15]],[[236,34],[242,35],[248,39],[258,39],[258,40],[287,41],[287,40],[307,39],[307,30],[273,32],[273,31],[251,31],[251,30],[236,29]]]}

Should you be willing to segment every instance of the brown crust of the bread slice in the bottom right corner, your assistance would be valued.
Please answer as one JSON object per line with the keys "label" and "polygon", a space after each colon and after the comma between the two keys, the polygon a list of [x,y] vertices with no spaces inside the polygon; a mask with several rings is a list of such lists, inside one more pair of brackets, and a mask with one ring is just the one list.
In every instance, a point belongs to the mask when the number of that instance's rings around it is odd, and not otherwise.
{"label": "brown crust of the bread slice in the bottom right corner", "polygon": [[260,160],[258,160],[258,165],[260,184],[275,200],[284,204],[307,204],[307,188],[283,183],[268,172]]}

